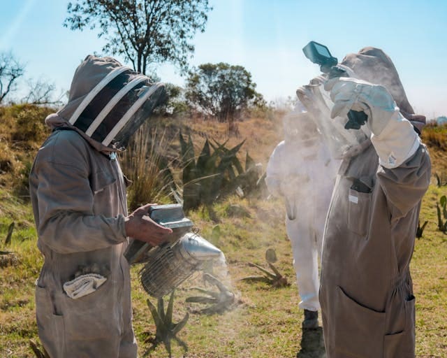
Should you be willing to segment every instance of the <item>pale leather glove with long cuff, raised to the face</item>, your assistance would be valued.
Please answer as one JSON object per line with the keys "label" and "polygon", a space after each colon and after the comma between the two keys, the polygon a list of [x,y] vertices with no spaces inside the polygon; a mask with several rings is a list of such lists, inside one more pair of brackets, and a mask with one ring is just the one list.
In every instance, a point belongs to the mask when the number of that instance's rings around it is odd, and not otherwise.
{"label": "pale leather glove with long cuff, raised to the face", "polygon": [[381,165],[395,168],[416,152],[418,135],[385,87],[354,78],[335,78],[326,83],[325,89],[330,90],[334,102],[330,117],[346,117],[351,109],[367,114],[366,125]]}

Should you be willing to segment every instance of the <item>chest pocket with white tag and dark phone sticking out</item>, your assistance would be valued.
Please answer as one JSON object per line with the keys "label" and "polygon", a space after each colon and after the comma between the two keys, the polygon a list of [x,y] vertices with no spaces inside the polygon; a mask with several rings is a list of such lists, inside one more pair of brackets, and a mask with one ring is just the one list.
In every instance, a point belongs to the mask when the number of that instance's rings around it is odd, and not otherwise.
{"label": "chest pocket with white tag and dark phone sticking out", "polygon": [[[368,183],[368,185],[365,184]],[[348,196],[348,228],[365,237],[369,226],[369,210],[371,208],[372,180],[354,179]]]}

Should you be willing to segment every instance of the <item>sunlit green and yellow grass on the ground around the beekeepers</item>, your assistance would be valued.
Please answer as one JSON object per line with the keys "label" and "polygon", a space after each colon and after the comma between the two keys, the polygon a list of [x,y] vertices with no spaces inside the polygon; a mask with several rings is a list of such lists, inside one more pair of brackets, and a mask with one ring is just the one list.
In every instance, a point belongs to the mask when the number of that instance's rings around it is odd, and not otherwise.
{"label": "sunlit green and yellow grass on the ground around the beekeepers", "polygon": [[[242,122],[240,137],[230,141],[239,143],[247,138],[243,148],[257,162],[265,165],[268,155],[281,138],[279,123],[278,120],[256,119]],[[195,141],[199,143],[200,133],[207,131],[207,123],[196,121],[191,127],[196,134]],[[210,130],[214,131],[216,138],[224,137],[223,127],[213,124]],[[13,145],[3,143],[3,146],[11,148]],[[30,148],[34,147],[31,145]],[[437,145],[430,148],[430,153],[434,158],[434,169],[441,175],[447,168],[446,153]],[[20,172],[19,164],[13,164],[17,165],[17,173]],[[31,206],[12,194],[15,191],[8,185],[12,177],[6,174],[0,187],[0,250],[12,254],[0,255],[0,357],[34,357],[29,348],[29,340],[38,339],[34,320],[34,282],[43,258],[36,248]],[[447,235],[437,229],[436,211],[436,202],[442,195],[447,195],[447,186],[437,187],[433,179],[420,213],[420,221],[427,220],[428,224],[423,237],[416,241],[411,262],[417,300],[418,358],[447,357]],[[234,206],[249,215],[231,215],[230,209]],[[189,217],[200,228],[200,235],[225,253],[229,273],[226,282],[236,294],[237,304],[221,314],[198,313],[203,305],[185,302],[187,297],[197,294],[191,288],[215,290],[216,287],[206,286],[201,273],[184,282],[175,292],[174,322],[189,313],[186,326],[178,334],[188,346],[188,351],[185,353],[173,342],[173,357],[321,357],[321,330],[303,336],[301,329],[302,310],[298,308],[291,245],[285,233],[281,201],[230,197],[214,206],[214,210],[219,224],[209,219],[206,210],[196,210]],[[4,247],[3,241],[11,222],[15,222],[15,229],[10,245]],[[276,250],[278,262],[275,266],[286,276],[290,286],[274,288],[265,283],[240,280],[261,273],[249,266],[250,262],[268,268],[265,261],[268,248]],[[151,346],[150,338],[155,334],[155,325],[146,303],[149,296],[138,282],[140,267],[133,266],[131,272],[139,356],[168,357],[163,345],[147,352]],[[214,271],[214,274],[221,275],[221,272]],[[151,301],[156,303],[154,299]]]}

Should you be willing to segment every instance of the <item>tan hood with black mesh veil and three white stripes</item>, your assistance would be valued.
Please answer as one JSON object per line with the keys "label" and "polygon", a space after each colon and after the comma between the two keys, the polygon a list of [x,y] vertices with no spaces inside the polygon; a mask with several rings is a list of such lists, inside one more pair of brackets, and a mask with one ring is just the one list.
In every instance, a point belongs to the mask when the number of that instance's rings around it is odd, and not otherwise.
{"label": "tan hood with black mesh veil and three white stripes", "polygon": [[68,103],[45,123],[78,131],[96,150],[112,152],[150,117],[165,90],[112,57],[88,55],[78,66]]}

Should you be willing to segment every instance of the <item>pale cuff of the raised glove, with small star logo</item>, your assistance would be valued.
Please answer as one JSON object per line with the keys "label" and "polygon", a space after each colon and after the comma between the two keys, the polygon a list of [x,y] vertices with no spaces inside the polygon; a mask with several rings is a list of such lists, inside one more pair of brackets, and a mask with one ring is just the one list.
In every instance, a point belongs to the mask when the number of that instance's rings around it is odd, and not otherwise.
{"label": "pale cuff of the raised glove, with small star logo", "polygon": [[379,164],[387,169],[400,166],[420,145],[420,138],[411,123],[399,112],[396,113],[379,136],[371,136],[372,145],[379,155]]}

